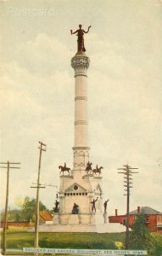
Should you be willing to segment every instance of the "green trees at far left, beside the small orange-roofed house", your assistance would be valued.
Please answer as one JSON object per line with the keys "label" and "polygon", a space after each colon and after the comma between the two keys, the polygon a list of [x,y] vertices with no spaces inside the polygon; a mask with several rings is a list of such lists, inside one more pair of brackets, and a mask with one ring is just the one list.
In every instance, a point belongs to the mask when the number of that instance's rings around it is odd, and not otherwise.
{"label": "green trees at far left, beside the small orange-roofed house", "polygon": [[[30,198],[28,196],[25,199],[17,200],[16,209],[8,211],[8,221],[30,221],[33,214],[36,212],[36,199]],[[47,210],[42,202],[39,203],[40,211]],[[1,220],[3,221],[3,214],[1,213]]]}

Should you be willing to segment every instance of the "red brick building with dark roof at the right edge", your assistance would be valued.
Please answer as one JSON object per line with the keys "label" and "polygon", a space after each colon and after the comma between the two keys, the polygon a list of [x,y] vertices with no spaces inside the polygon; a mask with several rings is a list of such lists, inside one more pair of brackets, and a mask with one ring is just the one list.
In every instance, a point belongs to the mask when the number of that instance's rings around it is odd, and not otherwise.
{"label": "red brick building with dark roof at the right edge", "polygon": [[[130,212],[130,228],[137,218],[137,215],[140,213],[145,215],[145,224],[148,226],[150,231],[162,234],[162,212],[156,211],[151,207],[137,207],[137,210]],[[115,216],[109,216],[109,223],[119,223],[126,225],[126,214],[118,215],[117,209],[115,209]]]}

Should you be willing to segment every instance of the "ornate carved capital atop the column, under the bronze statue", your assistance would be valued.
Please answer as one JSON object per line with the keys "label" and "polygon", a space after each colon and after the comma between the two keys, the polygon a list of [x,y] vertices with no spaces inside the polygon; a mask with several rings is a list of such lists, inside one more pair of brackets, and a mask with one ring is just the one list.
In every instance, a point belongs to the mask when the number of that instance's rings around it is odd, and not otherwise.
{"label": "ornate carved capital atop the column, under the bronze statue", "polygon": [[89,67],[90,59],[87,55],[75,55],[71,59],[71,67],[75,70],[76,76],[86,76],[87,77],[87,68]]}

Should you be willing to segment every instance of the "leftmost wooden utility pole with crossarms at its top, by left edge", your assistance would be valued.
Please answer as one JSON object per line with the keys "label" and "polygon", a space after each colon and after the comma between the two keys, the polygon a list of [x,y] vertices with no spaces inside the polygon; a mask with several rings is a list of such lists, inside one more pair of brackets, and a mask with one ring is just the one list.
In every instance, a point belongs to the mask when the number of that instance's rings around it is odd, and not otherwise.
{"label": "leftmost wooden utility pole with crossarms at its top, by left edge", "polygon": [[[20,167],[16,167],[13,165],[20,165],[20,163],[11,163],[7,161],[6,163],[0,163],[0,168],[7,169],[7,185],[6,185],[6,203],[4,210],[4,218],[3,218],[3,255],[6,255],[6,230],[7,230],[7,219],[8,219],[8,194],[9,194],[9,170],[10,169],[20,169]],[[10,166],[12,165],[12,166]]]}

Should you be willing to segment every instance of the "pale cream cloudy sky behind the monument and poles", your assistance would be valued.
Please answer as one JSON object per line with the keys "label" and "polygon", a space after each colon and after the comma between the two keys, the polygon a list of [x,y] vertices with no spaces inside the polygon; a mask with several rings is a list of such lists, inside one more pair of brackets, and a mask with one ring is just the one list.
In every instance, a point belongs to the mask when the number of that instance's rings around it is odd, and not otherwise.
{"label": "pale cream cloudy sky behind the monument and poles", "polygon": [[[39,149],[41,183],[59,186],[59,165],[72,167],[74,145],[74,70],[79,24],[85,35],[88,69],[90,160],[103,166],[103,200],[108,214],[126,212],[118,168],[137,167],[131,210],[162,212],[162,1],[62,0],[1,1],[1,162],[11,169],[8,207],[36,197]],[[1,169],[1,207],[6,170]],[[52,209],[55,187],[41,189]]]}

